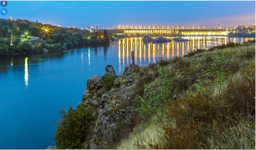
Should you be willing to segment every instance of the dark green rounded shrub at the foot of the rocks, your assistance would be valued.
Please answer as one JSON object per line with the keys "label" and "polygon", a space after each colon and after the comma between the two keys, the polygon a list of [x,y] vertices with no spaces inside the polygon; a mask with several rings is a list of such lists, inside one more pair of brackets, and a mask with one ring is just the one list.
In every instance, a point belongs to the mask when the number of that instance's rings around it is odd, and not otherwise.
{"label": "dark green rounded shrub at the foot of the rocks", "polygon": [[63,109],[60,113],[62,120],[55,131],[54,139],[60,149],[81,148],[85,141],[86,130],[93,122],[92,110],[87,105],[81,105],[79,109]]}

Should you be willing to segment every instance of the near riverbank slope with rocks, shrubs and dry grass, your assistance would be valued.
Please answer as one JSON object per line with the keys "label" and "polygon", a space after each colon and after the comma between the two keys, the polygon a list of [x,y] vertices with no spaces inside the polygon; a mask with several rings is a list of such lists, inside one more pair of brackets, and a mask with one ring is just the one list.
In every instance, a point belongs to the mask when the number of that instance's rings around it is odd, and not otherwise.
{"label": "near riverbank slope with rocks, shrubs and dry grass", "polygon": [[62,111],[55,140],[61,149],[255,149],[254,96],[255,40],[132,63],[118,76],[106,66],[77,109]]}

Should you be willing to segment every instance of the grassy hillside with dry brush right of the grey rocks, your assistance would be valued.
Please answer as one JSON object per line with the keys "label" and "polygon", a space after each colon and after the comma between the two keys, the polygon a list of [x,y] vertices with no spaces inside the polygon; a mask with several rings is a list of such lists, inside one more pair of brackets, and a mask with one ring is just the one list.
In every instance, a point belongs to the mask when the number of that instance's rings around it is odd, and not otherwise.
{"label": "grassy hillside with dry brush right of the grey rocks", "polygon": [[143,122],[115,148],[255,149],[255,41],[160,58],[140,71]]}

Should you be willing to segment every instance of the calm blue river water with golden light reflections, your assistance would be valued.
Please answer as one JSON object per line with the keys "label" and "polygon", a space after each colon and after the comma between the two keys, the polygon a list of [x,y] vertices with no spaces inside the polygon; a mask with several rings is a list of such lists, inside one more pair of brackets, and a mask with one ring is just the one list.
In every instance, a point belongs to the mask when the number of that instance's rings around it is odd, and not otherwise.
{"label": "calm blue river water with golden light reflections", "polygon": [[[62,105],[76,108],[90,76],[103,75],[112,65],[117,74],[131,63],[147,65],[162,54],[167,58],[187,51],[227,43],[227,37],[185,37],[188,42],[143,43],[126,38],[110,45],[41,54],[0,57],[0,149],[46,149]],[[237,42],[248,38],[236,38]]]}

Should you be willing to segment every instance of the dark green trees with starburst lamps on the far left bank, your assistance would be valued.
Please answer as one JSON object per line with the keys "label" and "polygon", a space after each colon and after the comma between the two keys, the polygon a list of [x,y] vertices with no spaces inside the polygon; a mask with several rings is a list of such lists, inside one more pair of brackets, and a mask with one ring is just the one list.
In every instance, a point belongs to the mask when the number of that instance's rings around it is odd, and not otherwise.
{"label": "dark green trees with starburst lamps on the far left bank", "polygon": [[[30,37],[39,37],[40,42],[29,42]],[[0,19],[0,56],[23,52],[31,53],[67,49],[77,45],[100,44],[114,41],[115,34],[106,31],[89,32],[78,28],[62,28],[26,19]]]}

